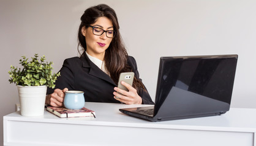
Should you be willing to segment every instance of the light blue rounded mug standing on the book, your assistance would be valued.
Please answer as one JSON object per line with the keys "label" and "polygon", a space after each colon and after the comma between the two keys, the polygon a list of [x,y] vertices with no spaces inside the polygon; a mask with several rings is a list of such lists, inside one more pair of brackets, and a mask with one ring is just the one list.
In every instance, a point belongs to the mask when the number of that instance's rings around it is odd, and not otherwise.
{"label": "light blue rounded mug standing on the book", "polygon": [[85,97],[83,91],[66,91],[64,97],[64,106],[68,109],[81,109],[85,106]]}

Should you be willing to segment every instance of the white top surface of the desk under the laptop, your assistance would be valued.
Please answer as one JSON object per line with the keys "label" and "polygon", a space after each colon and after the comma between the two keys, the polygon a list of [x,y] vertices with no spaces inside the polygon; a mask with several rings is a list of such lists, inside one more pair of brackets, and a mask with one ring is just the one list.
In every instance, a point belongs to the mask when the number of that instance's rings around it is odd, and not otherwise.
{"label": "white top surface of the desk under the laptop", "polygon": [[256,132],[256,109],[230,108],[222,116],[198,117],[192,119],[170,120],[163,122],[149,122],[143,119],[127,116],[119,108],[130,108],[149,105],[124,105],[119,103],[86,102],[85,107],[96,112],[95,119],[83,117],[59,118],[48,111],[39,117],[24,117],[20,111],[4,116],[4,119],[23,120],[30,122],[75,123],[92,125],[113,125],[126,127],[154,127],[154,128],[179,128],[190,130],[218,130],[218,131],[254,131]]}

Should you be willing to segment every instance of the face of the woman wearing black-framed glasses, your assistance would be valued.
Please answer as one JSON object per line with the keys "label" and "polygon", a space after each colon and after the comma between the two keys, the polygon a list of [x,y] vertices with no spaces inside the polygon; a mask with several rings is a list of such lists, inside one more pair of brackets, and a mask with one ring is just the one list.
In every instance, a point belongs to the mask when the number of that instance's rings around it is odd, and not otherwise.
{"label": "face of the woman wearing black-framed glasses", "polygon": [[[113,24],[107,17],[100,17],[97,19],[96,23],[91,24],[91,26],[96,26],[104,30],[114,30]],[[110,46],[113,38],[108,38],[106,32],[102,35],[94,35],[92,33],[92,27],[85,27],[81,30],[83,36],[86,40],[86,52],[92,57],[96,57],[100,60],[104,60],[105,50]]]}

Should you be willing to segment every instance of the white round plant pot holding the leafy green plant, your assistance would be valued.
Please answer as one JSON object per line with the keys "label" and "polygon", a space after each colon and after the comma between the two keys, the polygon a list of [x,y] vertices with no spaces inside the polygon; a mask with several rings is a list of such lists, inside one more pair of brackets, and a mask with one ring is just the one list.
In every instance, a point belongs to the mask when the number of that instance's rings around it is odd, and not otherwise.
{"label": "white round plant pot holding the leafy green plant", "polygon": [[20,86],[20,111],[22,116],[42,116],[45,108],[47,86]]}

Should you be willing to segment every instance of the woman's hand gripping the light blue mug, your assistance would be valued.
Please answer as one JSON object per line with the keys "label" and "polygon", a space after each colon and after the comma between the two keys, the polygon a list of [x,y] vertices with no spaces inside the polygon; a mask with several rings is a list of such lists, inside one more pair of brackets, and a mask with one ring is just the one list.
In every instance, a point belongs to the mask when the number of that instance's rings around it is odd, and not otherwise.
{"label": "woman's hand gripping the light blue mug", "polygon": [[50,106],[56,106],[61,107],[63,106],[65,92],[69,91],[69,89],[64,88],[61,89],[55,89],[55,91],[52,94],[48,94],[45,99],[45,104]]}

